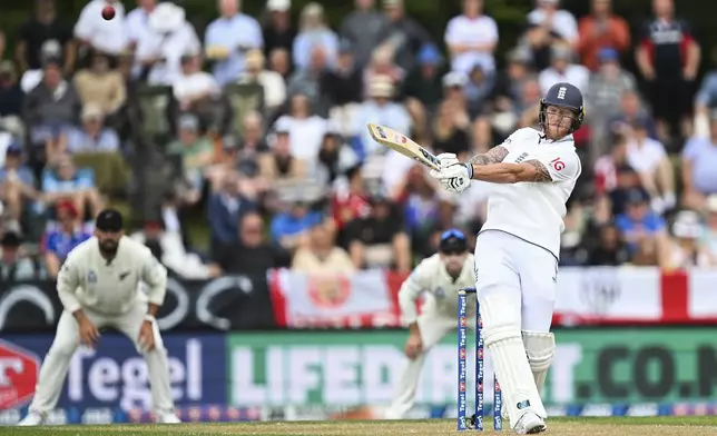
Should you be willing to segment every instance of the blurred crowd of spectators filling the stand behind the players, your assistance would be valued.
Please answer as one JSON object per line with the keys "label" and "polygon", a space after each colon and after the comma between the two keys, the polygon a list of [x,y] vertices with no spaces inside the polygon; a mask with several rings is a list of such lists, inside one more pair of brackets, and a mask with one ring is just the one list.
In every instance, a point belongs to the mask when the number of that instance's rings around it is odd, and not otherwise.
{"label": "blurred crowd of spectators filling the stand behind the players", "polygon": [[537,0],[505,53],[482,0],[443,40],[403,2],[328,23],[320,3],[219,0],[202,33],[171,2],[91,0],[71,22],[35,0],[0,43],[0,283],[55,277],[108,204],[141,209],[128,234],[185,278],[409,271],[443,230],[480,229],[490,186],[452,196],[365,125],[468,158],[537,125],[558,81],[587,110],[561,264],[717,266],[717,72],[698,78],[709,50],[672,0],[645,26],[611,0],[585,17]]}

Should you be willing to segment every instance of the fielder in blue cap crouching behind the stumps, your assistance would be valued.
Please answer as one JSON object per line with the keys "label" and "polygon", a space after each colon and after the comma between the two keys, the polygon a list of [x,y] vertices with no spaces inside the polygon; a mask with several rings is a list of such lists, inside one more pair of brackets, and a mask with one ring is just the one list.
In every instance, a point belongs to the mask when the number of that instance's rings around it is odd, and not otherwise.
{"label": "fielder in blue cap crouching behind the stumps", "polygon": [[[455,329],[458,291],[473,287],[473,255],[468,252],[465,235],[448,230],[441,236],[439,252],[424,259],[403,283],[399,301],[410,336],[405,345],[409,358],[399,382],[387,419],[401,419],[413,407],[415,389],[426,353],[445,335]],[[425,293],[426,298],[416,317],[415,303]],[[469,300],[469,315],[475,314],[475,301]]]}

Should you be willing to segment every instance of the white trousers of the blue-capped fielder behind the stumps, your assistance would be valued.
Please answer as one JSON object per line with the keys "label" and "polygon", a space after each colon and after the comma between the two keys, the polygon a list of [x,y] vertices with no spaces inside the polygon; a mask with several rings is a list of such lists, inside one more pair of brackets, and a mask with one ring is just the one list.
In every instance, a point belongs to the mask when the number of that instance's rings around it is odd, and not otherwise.
{"label": "white trousers of the blue-capped fielder behind the stumps", "polygon": [[[472,318],[472,315],[469,313],[469,319]],[[458,314],[452,316],[441,314],[430,306],[426,307],[425,311],[421,313],[416,319],[416,324],[419,325],[419,331],[421,331],[423,349],[414,359],[407,359],[403,373],[401,373],[399,385],[396,386],[394,400],[386,412],[386,419],[401,419],[411,410],[415,400],[415,392],[419,379],[421,378],[423,364],[425,363],[425,356],[435,344],[440,343],[445,335],[458,327],[456,316]],[[469,323],[469,328],[474,329],[474,323]]]}

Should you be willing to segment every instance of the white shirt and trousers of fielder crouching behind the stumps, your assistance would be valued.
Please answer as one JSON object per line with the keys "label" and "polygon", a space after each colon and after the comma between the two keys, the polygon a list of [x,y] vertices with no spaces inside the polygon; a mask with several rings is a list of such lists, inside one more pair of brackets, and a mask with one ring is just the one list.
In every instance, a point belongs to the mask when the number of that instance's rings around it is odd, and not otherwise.
{"label": "white shirt and trousers of fielder crouching behind the stumps", "polygon": [[[413,270],[411,276],[401,285],[399,303],[401,314],[406,325],[418,323],[423,349],[419,356],[406,363],[405,369],[399,382],[397,392],[393,404],[386,413],[389,419],[402,418],[412,407],[415,389],[425,361],[425,355],[431,347],[438,344],[445,335],[458,326],[458,291],[461,288],[472,288],[473,255],[468,255],[458,279],[445,270],[441,255],[435,254],[423,259]],[[416,300],[425,296],[421,307],[421,315],[416,316]],[[475,315],[475,300],[468,299],[468,315]],[[471,324],[471,328],[473,328]]]}

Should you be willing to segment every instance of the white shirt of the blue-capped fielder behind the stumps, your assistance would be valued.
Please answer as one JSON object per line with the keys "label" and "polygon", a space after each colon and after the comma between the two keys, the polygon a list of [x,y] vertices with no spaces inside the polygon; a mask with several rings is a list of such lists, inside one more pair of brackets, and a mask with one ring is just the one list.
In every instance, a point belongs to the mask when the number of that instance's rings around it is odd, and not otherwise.
{"label": "white shirt of the blue-capped fielder behind the stumps", "polygon": [[[421,295],[426,295],[422,311],[434,309],[441,315],[455,318],[458,316],[458,291],[461,288],[475,287],[473,274],[474,257],[469,254],[463,261],[463,269],[458,279],[445,270],[441,255],[435,254],[419,264],[411,272],[411,276],[401,285],[399,290],[399,304],[401,315],[405,324],[413,324],[416,320],[415,303]],[[468,298],[468,314],[475,314],[475,297]]]}

